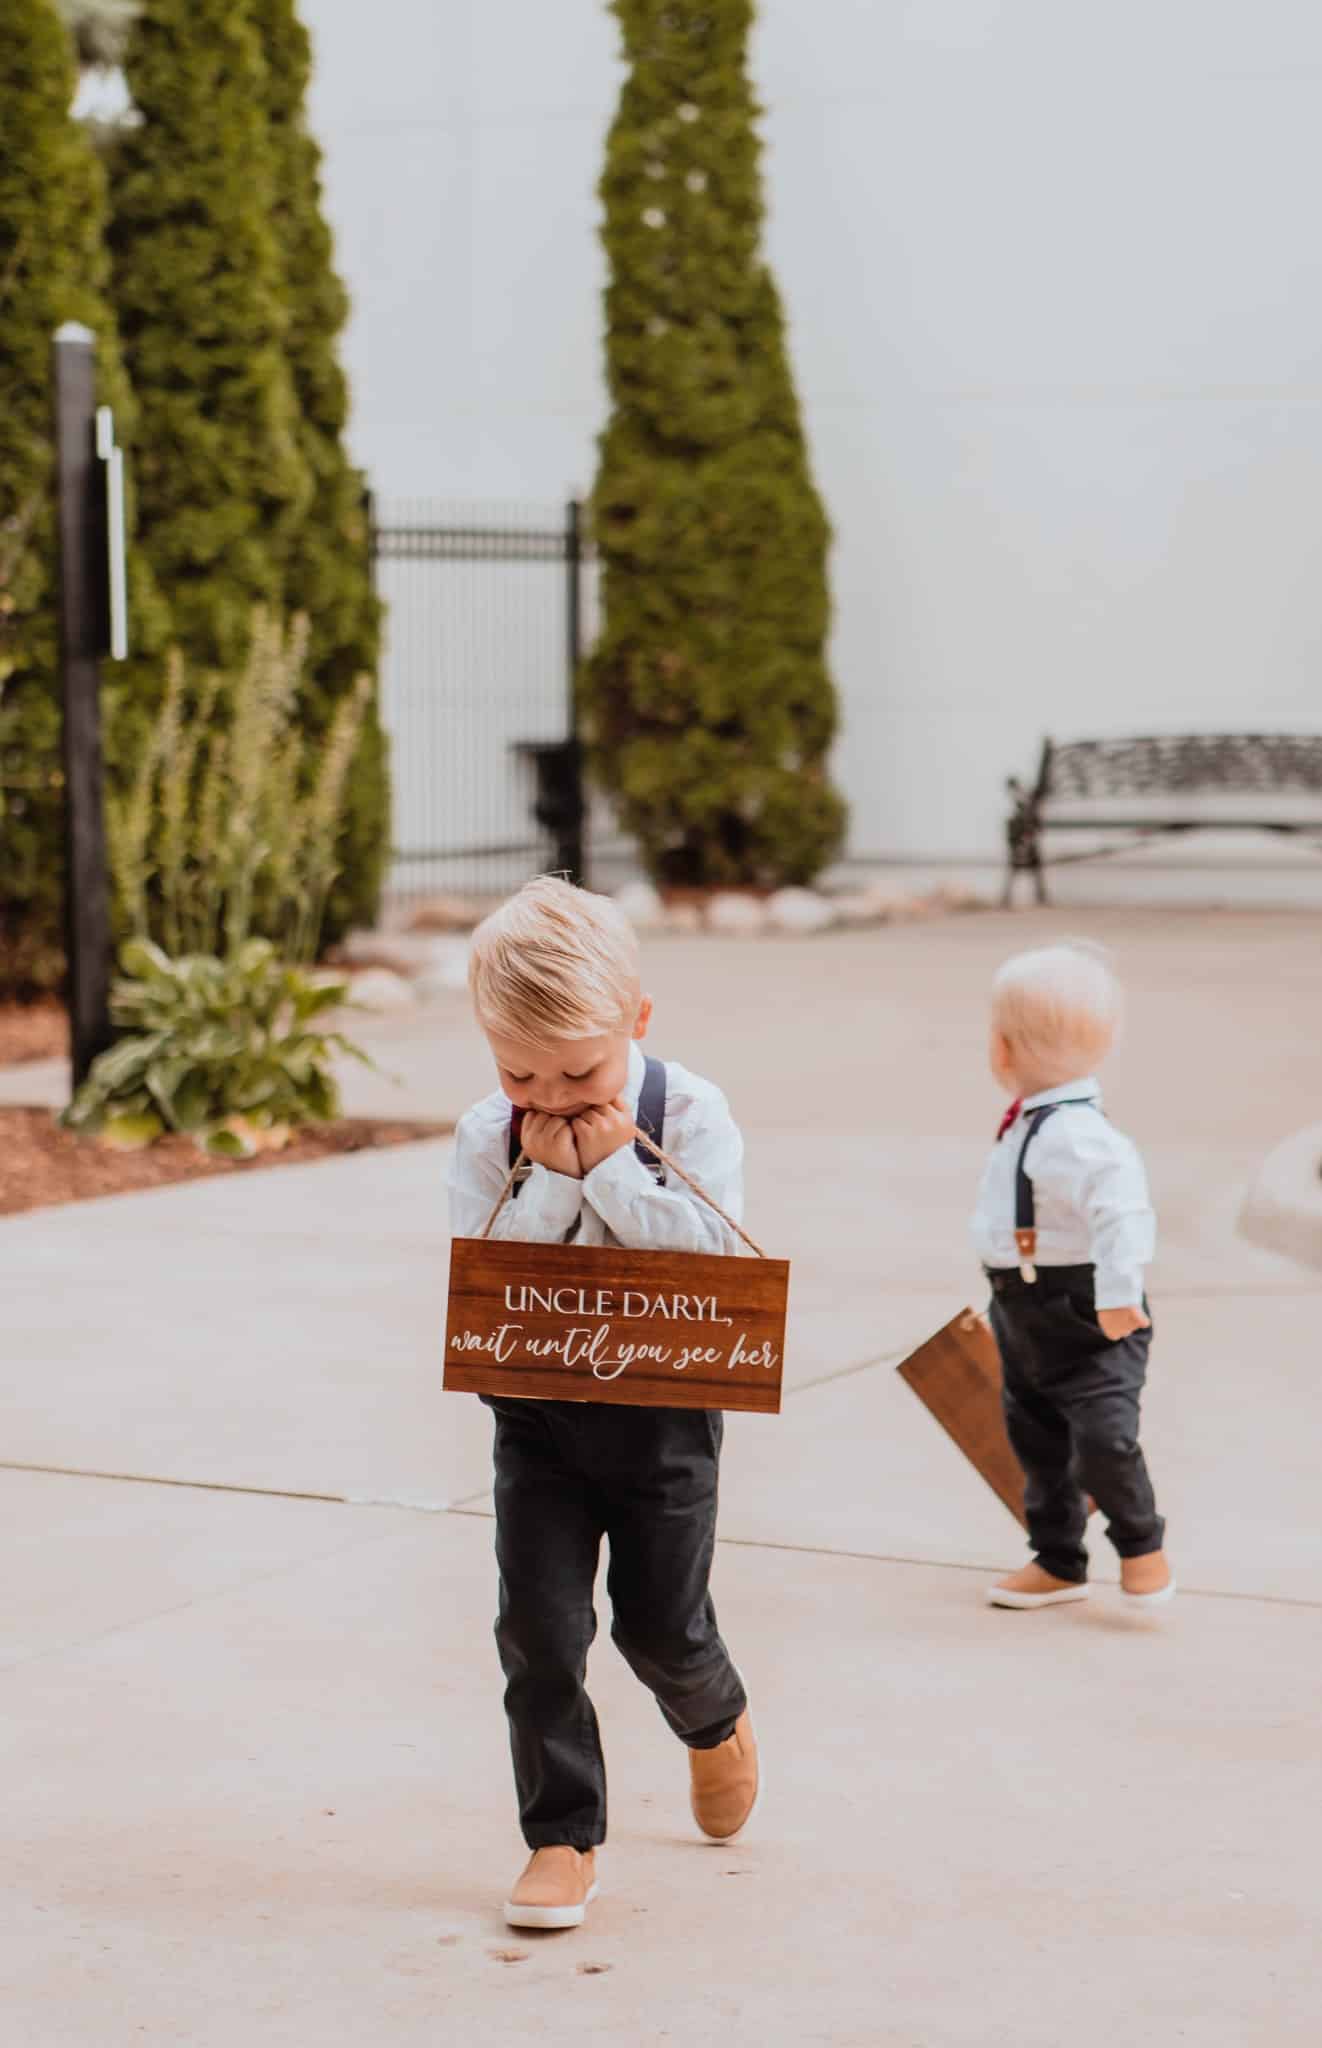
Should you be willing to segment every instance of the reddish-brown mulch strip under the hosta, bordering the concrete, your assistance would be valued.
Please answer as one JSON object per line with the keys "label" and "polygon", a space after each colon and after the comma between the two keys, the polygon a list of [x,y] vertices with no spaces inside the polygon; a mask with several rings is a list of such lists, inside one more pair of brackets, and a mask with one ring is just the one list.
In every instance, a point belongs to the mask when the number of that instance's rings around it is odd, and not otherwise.
{"label": "reddish-brown mulch strip under the hosta, bordering the concrete", "polygon": [[170,1188],[182,1180],[215,1180],[219,1174],[266,1174],[280,1165],[309,1165],[315,1159],[338,1159],[381,1145],[448,1137],[452,1128],[454,1124],[346,1116],[338,1124],[309,1124],[278,1153],[258,1153],[256,1159],[209,1159],[192,1139],[158,1139],[145,1151],[125,1153],[61,1130],[51,1110],[0,1108],[0,1217],[16,1217],[25,1208],[53,1208],[57,1202],[88,1202],[98,1194],[137,1194],[143,1188]]}

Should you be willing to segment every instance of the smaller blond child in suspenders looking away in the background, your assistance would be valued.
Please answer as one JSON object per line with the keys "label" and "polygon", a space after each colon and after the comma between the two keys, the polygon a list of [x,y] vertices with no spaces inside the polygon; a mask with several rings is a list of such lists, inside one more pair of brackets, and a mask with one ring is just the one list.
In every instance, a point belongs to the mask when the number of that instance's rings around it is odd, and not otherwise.
{"label": "smaller blond child in suspenders looking away in the background", "polygon": [[988,1589],[997,1608],[1087,1597],[1087,1495],[1107,1518],[1130,1599],[1175,1593],[1138,1444],[1154,1217],[1138,1149],[1107,1122],[1095,1079],[1119,1008],[1105,956],[1081,944],[1021,952],[993,985],[990,1067],[1013,1102],[972,1235],[993,1286],[1033,1548]]}

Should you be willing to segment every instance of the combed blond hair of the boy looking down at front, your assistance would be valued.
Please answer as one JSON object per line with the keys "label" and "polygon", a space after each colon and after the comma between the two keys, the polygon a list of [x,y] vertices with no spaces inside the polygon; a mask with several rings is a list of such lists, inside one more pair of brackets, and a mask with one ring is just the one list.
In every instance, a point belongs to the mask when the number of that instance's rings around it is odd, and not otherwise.
{"label": "combed blond hair of the boy looking down at front", "polygon": [[632,1030],[638,940],[610,897],[540,874],[479,924],[469,989],[479,1024],[528,1044]]}

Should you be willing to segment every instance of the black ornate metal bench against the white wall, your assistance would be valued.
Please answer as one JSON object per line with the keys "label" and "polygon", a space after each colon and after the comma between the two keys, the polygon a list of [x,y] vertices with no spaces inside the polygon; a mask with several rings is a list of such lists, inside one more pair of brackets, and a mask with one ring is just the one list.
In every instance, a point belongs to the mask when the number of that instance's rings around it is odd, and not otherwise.
{"label": "black ornate metal bench against the white wall", "polygon": [[[1173,831],[1287,831],[1322,846],[1322,733],[1220,733],[1197,739],[1046,739],[1035,782],[1009,780],[1009,866],[1031,874],[1101,860]],[[1097,844],[1052,854],[1044,836],[1087,831]]]}

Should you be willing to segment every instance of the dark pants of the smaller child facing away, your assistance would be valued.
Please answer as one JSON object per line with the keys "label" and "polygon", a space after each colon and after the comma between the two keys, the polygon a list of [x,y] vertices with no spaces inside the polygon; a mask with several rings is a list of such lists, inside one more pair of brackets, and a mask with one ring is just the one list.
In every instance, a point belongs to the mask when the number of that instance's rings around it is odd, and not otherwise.
{"label": "dark pants of the smaller child facing away", "polygon": [[1138,1448],[1152,1331],[1111,1343],[1097,1323],[1091,1266],[1044,1266],[1035,1282],[997,1272],[990,1282],[1005,1427],[1023,1466],[1038,1563],[1056,1579],[1087,1579],[1087,1493],[1119,1556],[1160,1550],[1166,1524]]}

